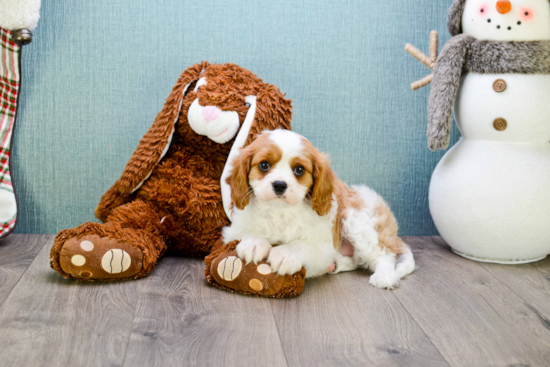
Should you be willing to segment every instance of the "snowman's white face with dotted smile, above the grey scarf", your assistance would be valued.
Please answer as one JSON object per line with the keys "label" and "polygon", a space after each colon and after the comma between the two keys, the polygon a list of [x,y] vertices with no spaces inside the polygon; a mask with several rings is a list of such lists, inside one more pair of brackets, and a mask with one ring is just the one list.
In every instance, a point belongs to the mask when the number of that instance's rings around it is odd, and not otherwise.
{"label": "snowman's white face with dotted smile, above the grey scarf", "polygon": [[[506,14],[500,14],[496,8],[496,0],[468,0],[462,15],[463,32],[477,39],[491,41],[550,39],[550,2],[548,0],[511,0],[510,2],[512,10]],[[481,12],[482,7],[483,12]],[[532,13],[532,18],[527,19],[524,16],[525,11]],[[489,19],[491,22],[488,22]]]}

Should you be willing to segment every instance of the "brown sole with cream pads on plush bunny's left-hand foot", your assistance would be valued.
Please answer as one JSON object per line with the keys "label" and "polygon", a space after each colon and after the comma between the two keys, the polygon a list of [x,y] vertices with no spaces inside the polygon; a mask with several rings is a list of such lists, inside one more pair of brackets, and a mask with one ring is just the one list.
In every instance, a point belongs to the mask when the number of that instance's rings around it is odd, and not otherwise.
{"label": "brown sole with cream pads on plush bunny's left-hand foot", "polygon": [[143,268],[142,251],[109,237],[86,235],[68,239],[59,252],[66,278],[118,280],[135,278]]}

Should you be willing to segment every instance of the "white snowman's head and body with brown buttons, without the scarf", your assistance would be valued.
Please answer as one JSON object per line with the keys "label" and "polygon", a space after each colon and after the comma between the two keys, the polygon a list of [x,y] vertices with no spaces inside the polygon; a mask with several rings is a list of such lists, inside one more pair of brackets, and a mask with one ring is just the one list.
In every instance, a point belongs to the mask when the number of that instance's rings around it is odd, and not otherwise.
{"label": "white snowman's head and body with brown buttons, without the scarf", "polygon": [[[463,32],[480,40],[550,40],[549,0],[511,0],[504,14],[503,2],[496,3],[467,0]],[[430,183],[430,212],[440,234],[455,252],[479,261],[545,258],[550,75],[466,73],[454,113],[462,138]]]}

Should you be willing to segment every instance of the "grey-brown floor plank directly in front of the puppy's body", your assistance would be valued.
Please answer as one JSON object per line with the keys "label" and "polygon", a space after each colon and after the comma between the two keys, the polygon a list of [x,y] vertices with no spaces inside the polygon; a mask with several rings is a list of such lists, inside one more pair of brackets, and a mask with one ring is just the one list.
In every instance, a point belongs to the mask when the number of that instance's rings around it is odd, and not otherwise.
{"label": "grey-brown floor plank directly in front of the puppy's body", "polygon": [[366,271],[308,280],[300,297],[271,305],[289,366],[448,366],[394,294],[368,284]]}

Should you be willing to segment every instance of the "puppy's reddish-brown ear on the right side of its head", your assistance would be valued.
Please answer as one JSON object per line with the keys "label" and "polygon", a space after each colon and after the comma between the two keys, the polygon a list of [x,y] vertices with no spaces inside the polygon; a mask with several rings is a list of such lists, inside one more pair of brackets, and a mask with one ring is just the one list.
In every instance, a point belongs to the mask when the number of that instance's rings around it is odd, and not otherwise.
{"label": "puppy's reddish-brown ear on the right side of its head", "polygon": [[311,189],[311,207],[320,216],[330,213],[332,193],[336,184],[336,176],[330,168],[326,155],[315,152],[313,155],[313,187]]}

